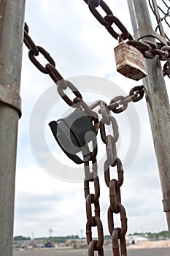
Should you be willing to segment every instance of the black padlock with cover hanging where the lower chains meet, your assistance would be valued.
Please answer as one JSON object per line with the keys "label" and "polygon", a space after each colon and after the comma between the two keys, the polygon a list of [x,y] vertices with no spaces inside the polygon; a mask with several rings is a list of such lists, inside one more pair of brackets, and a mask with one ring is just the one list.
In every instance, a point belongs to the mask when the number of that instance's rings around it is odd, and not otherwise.
{"label": "black padlock with cover hanging where the lower chains meet", "polygon": [[[49,124],[55,140],[64,153],[77,164],[90,161],[92,152],[88,143],[96,139],[97,131],[92,118],[84,110],[76,109],[66,118],[51,121]],[[83,159],[77,156],[82,152]]]}

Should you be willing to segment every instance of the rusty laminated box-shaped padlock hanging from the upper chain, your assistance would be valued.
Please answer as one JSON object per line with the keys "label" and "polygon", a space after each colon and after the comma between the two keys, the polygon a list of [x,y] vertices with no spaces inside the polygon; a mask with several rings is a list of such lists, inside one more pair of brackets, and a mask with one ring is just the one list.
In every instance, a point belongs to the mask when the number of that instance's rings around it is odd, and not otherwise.
{"label": "rusty laminated box-shaped padlock hanging from the upper chain", "polygon": [[146,77],[144,56],[138,49],[121,42],[114,50],[117,72],[136,81]]}

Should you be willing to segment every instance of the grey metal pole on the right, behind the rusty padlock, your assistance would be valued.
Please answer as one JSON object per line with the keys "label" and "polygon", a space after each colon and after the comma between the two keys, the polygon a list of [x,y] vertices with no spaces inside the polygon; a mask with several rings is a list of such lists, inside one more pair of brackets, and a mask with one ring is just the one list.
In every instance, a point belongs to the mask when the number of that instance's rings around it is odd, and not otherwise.
{"label": "grey metal pole on the right, behind the rusty padlock", "polygon": [[[146,0],[128,0],[134,36],[155,41]],[[149,31],[149,32],[148,32]],[[150,37],[145,37],[150,33]],[[145,36],[144,36],[145,34]],[[147,108],[163,191],[163,208],[170,232],[170,113],[169,98],[158,57],[146,60],[147,78],[144,78]]]}

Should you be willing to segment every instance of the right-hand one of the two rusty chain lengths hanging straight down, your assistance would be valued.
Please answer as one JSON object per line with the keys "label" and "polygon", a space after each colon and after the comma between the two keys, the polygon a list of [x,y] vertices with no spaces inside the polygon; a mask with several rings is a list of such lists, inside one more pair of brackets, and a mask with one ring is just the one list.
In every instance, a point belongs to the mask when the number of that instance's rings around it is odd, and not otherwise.
{"label": "right-hand one of the two rusty chain lengths hanging straight down", "polygon": [[[121,204],[121,194],[120,187],[123,184],[123,165],[119,158],[117,158],[116,142],[118,139],[118,127],[115,118],[108,116],[112,120],[112,130],[113,136],[107,135],[105,132],[104,119],[101,120],[101,140],[106,144],[107,150],[107,160],[104,163],[104,178],[107,187],[109,187],[109,200],[110,206],[107,211],[108,216],[108,228],[109,233],[112,236],[112,250],[114,256],[127,255],[126,244],[125,244],[125,234],[127,232],[127,217],[125,213],[125,208]],[[110,178],[111,167],[117,167],[118,179]],[[114,224],[114,214],[120,214],[121,228],[115,228]],[[119,241],[120,240],[120,250],[119,250]]]}

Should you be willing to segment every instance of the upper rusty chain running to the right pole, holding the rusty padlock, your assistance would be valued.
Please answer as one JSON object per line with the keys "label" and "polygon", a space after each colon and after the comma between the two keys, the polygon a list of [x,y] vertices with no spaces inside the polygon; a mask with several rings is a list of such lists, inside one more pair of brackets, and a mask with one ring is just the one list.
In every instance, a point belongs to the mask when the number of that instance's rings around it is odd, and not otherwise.
{"label": "upper rusty chain running to the right pole, holding the rusty padlock", "polygon": [[[128,45],[132,45],[137,48],[146,59],[154,59],[155,56],[159,56],[161,61],[167,61],[166,66],[169,66],[170,59],[170,45],[164,45],[161,49],[158,49],[158,45],[149,40],[145,40],[144,42],[134,40],[128,30],[125,28],[123,23],[113,15],[112,10],[109,9],[107,4],[103,0],[84,0],[86,4],[88,4],[90,12],[94,15],[94,17],[98,20],[101,25],[103,25],[109,34],[112,35],[115,39],[119,41],[124,41],[128,39],[126,42]],[[97,7],[101,7],[106,15],[103,17],[97,10]],[[115,29],[112,28],[112,25],[115,24],[117,29],[119,29],[122,34],[118,34]],[[163,67],[163,75],[170,76],[169,69]]]}

